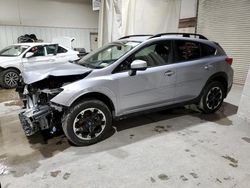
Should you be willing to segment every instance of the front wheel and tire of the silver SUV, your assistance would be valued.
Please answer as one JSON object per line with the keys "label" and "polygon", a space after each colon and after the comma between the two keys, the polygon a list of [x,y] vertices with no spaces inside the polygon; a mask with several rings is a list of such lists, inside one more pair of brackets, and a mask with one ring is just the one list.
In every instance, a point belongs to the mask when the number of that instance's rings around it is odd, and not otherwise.
{"label": "front wheel and tire of the silver SUV", "polygon": [[76,146],[87,146],[105,139],[111,127],[111,112],[99,100],[87,100],[72,106],[62,120],[66,137]]}

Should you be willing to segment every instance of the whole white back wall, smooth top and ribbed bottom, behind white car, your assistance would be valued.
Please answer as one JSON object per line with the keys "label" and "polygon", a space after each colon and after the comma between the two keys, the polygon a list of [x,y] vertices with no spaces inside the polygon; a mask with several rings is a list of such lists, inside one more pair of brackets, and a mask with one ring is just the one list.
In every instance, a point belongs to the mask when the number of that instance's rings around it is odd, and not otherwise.
{"label": "whole white back wall, smooth top and ribbed bottom, behind white car", "polygon": [[91,0],[0,0],[0,49],[16,43],[21,35],[35,34],[44,42],[75,37],[74,47],[89,51],[98,16]]}

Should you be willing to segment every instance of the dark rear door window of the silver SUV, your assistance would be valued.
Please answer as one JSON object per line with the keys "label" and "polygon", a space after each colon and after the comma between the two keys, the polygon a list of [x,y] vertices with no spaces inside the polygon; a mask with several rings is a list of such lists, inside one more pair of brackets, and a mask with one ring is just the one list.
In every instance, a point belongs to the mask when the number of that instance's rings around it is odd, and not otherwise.
{"label": "dark rear door window of the silver SUV", "polygon": [[187,40],[175,41],[175,62],[191,61],[201,57],[200,44]]}

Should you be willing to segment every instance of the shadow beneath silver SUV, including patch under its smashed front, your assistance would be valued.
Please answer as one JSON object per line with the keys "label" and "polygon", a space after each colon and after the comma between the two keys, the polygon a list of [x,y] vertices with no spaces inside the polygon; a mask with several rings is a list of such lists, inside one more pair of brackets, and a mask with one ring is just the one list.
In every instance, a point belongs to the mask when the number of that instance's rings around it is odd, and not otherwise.
{"label": "shadow beneath silver SUV, including patch under its smashed front", "polygon": [[[137,142],[159,133],[179,131],[208,121],[229,126],[232,121],[228,117],[236,114],[237,109],[237,106],[225,102],[221,109],[214,114],[202,114],[186,108],[175,108],[114,121],[114,129],[106,136],[107,140],[104,139],[102,142],[88,147],[77,147],[77,150],[86,154],[100,152],[131,144],[131,142]],[[71,146],[62,132],[54,137],[37,135],[30,139],[30,144],[45,158],[53,156],[55,151],[63,151]]]}

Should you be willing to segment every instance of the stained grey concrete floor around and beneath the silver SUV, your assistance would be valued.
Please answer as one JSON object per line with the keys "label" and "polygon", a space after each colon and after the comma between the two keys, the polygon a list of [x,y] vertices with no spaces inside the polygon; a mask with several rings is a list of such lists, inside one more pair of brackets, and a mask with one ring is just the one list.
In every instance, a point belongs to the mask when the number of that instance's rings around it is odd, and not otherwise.
{"label": "stained grey concrete floor around and beneath the silver SUV", "polygon": [[103,142],[74,147],[63,135],[27,140],[15,92],[0,90],[0,182],[3,188],[249,188],[250,125],[236,116],[241,92],[234,86],[216,114],[175,109],[126,119]]}

